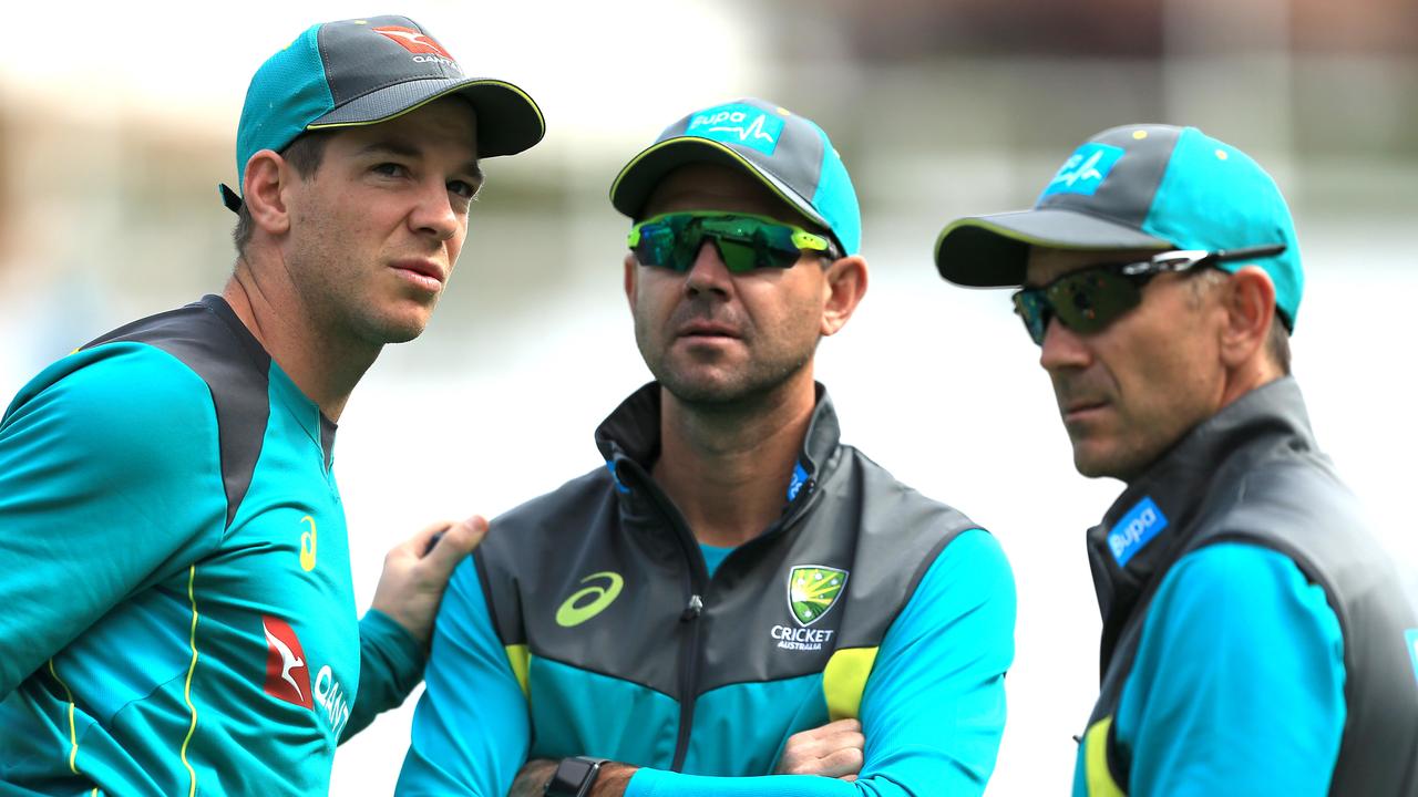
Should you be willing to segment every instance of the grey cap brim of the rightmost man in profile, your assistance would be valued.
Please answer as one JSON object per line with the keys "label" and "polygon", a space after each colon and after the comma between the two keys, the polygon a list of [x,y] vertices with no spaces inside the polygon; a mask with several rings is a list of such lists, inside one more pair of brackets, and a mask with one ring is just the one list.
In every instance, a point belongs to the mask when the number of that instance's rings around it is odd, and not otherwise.
{"label": "grey cap brim of the rightmost man in profile", "polygon": [[957,285],[1022,285],[1029,247],[1055,250],[1168,250],[1170,241],[1078,213],[1042,208],[957,218],[936,238],[936,268]]}

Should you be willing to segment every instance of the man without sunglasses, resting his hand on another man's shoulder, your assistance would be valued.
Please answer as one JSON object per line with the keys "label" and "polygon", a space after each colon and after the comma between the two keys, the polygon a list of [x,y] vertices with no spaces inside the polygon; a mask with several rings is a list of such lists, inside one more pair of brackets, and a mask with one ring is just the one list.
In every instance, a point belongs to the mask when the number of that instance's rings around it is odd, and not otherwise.
{"label": "man without sunglasses, resting his hand on another man's shoulder", "polygon": [[0,421],[0,791],[329,791],[486,529],[396,547],[356,620],[335,421],[427,325],[479,160],[540,138],[530,98],[406,17],[313,26],[259,68],[221,295],[81,346]]}

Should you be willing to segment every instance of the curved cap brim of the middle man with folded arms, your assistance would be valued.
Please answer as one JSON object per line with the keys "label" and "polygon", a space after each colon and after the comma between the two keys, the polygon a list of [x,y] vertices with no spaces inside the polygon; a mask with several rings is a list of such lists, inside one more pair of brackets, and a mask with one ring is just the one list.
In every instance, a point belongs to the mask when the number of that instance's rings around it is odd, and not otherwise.
{"label": "curved cap brim of the middle man with folded arms", "polygon": [[699,136],[665,139],[632,157],[620,170],[620,174],[615,176],[615,182],[611,183],[611,206],[631,218],[640,218],[641,211],[645,210],[645,203],[649,201],[649,194],[655,191],[655,186],[666,174],[689,163],[718,163],[729,169],[747,172],[794,210],[827,230],[837,247],[842,248],[842,243],[832,233],[832,225],[813,208],[813,203],[743,155],[735,152],[729,145]]}

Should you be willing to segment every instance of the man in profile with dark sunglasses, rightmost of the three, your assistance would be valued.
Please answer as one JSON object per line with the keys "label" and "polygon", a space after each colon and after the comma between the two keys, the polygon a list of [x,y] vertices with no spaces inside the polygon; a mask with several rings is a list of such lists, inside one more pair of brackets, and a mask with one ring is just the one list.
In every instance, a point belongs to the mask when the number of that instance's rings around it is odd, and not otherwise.
{"label": "man in profile with dark sunglasses, rightmost of the three", "polygon": [[1303,272],[1269,174],[1195,128],[1115,128],[1034,210],[950,223],[936,264],[1021,286],[1078,471],[1127,484],[1088,532],[1073,794],[1418,794],[1418,614],[1289,376]]}

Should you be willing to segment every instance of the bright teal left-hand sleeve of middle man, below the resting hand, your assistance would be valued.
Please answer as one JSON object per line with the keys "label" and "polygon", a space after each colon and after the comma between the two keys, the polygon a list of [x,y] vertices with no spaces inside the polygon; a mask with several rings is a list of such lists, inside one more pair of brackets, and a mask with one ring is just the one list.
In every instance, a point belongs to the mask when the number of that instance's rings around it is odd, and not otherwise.
{"label": "bright teal left-hand sleeve of middle man, below the resting hand", "polygon": [[526,763],[532,720],[471,556],[448,581],[424,685],[394,793],[506,794]]}

